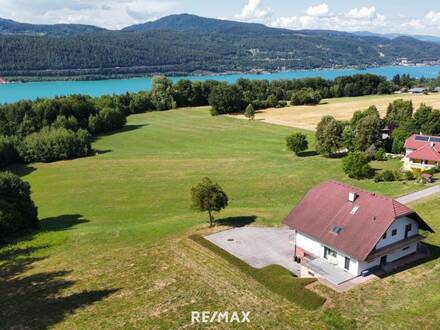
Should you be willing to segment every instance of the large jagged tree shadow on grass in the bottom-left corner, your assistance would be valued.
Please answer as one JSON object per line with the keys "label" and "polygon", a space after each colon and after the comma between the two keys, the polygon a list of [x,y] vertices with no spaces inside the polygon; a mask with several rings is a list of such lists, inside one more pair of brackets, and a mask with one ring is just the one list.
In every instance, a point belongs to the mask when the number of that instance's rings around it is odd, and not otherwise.
{"label": "large jagged tree shadow on grass in the bottom-left corner", "polygon": [[[66,293],[75,281],[72,271],[29,272],[44,257],[32,254],[41,247],[10,248],[0,254],[1,329],[47,329],[76,309],[96,303],[118,289],[81,290]],[[74,289],[73,289],[74,290]]]}

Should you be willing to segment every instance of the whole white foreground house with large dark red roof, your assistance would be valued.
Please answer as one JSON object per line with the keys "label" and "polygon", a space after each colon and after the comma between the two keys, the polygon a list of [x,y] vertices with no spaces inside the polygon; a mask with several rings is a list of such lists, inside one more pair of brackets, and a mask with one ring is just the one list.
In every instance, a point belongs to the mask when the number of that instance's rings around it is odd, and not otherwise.
{"label": "whole white foreground house with large dark red roof", "polygon": [[335,283],[416,254],[419,230],[433,232],[396,200],[334,181],[312,188],[283,223],[294,233],[295,261],[318,273],[337,269]]}

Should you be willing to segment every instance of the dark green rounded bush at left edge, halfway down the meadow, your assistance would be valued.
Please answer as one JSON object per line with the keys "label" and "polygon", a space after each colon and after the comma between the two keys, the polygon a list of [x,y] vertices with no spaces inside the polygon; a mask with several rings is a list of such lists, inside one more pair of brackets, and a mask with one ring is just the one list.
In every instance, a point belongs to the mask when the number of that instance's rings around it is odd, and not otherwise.
{"label": "dark green rounded bush at left edge, halfway down the meadow", "polygon": [[38,227],[37,208],[29,184],[11,172],[0,172],[0,241]]}

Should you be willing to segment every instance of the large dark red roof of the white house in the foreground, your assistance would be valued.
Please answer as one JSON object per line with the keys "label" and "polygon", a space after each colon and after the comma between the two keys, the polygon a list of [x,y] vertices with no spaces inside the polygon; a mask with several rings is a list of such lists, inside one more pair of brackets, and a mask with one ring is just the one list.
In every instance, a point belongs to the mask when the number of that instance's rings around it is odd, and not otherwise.
{"label": "large dark red roof of the white house in the foreground", "polygon": [[[358,195],[354,203],[348,200],[350,192]],[[283,223],[363,261],[392,222],[405,215],[432,231],[413,210],[391,198],[329,181],[312,188]],[[334,226],[342,228],[339,234],[332,232]]]}

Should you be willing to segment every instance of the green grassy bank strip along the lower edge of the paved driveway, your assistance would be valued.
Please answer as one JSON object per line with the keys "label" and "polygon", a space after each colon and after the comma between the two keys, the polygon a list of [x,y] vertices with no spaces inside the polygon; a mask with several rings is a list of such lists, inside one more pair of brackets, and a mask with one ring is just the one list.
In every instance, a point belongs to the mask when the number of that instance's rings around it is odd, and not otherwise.
{"label": "green grassy bank strip along the lower edge of the paved driveway", "polygon": [[325,298],[305,288],[306,285],[316,281],[314,278],[295,277],[279,265],[271,265],[261,269],[253,268],[200,235],[191,235],[190,239],[219,255],[272,292],[298,304],[302,308],[317,309],[325,302]]}

